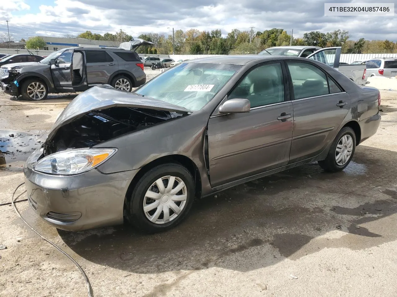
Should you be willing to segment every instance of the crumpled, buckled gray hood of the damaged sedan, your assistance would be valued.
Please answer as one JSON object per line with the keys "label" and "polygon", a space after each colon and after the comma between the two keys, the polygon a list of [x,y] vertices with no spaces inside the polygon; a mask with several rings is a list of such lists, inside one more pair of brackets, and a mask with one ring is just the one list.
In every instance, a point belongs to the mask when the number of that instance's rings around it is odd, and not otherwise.
{"label": "crumpled, buckled gray hood of the damaged sedan", "polygon": [[143,109],[163,110],[188,114],[191,112],[183,107],[173,105],[150,97],[144,97],[125,91],[119,91],[112,86],[95,86],[79,94],[59,114],[54,126],[52,126],[48,139],[51,139],[56,131],[72,122],[75,118],[94,110],[105,110],[112,107],[133,107]]}

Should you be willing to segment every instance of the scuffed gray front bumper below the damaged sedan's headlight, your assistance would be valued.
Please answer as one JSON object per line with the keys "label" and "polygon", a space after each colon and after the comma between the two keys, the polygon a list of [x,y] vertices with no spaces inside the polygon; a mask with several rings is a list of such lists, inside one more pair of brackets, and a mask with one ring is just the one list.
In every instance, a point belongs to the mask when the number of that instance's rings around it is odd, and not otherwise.
{"label": "scuffed gray front bumper below the damaged sedan's headlight", "polygon": [[23,169],[27,198],[47,223],[69,231],[123,223],[125,195],[138,170],[60,176],[34,171],[31,161],[37,160],[28,160]]}

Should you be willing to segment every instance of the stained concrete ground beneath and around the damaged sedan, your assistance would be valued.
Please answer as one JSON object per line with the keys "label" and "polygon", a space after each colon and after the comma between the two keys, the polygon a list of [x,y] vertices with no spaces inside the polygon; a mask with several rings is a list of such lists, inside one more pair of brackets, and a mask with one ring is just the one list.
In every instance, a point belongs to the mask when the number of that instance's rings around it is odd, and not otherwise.
{"label": "stained concrete ground beneath and around the damaged sedan", "polygon": [[[10,202],[29,151],[70,99],[0,95],[1,137],[15,139],[15,154],[0,169],[0,204]],[[27,202],[17,208],[81,264],[95,297],[394,297],[397,92],[382,91],[381,108],[378,133],[343,172],[309,164],[231,188],[198,200],[186,221],[161,234],[127,225],[66,232],[39,220]],[[7,246],[0,250],[1,297],[87,296],[71,261],[7,205],[0,206],[0,244]]]}

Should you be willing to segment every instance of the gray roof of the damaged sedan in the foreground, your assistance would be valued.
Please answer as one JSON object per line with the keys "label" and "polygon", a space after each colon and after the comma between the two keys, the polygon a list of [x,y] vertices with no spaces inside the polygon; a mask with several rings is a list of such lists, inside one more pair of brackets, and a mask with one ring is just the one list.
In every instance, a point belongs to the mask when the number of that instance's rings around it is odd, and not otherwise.
{"label": "gray roof of the damaged sedan in the foreground", "polygon": [[232,65],[245,65],[254,60],[273,61],[281,59],[296,59],[299,61],[307,61],[307,58],[291,57],[291,56],[277,56],[277,55],[225,55],[216,57],[205,57],[189,60],[186,63],[221,63]]}

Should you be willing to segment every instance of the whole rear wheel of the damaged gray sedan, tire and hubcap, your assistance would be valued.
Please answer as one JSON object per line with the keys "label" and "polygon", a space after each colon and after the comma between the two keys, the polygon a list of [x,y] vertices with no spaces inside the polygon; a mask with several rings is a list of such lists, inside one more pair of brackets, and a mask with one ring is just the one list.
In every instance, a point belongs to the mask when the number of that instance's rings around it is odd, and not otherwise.
{"label": "whole rear wheel of the damaged gray sedan, tire and hubcap", "polygon": [[335,137],[325,160],[318,161],[318,165],[328,172],[337,172],[349,165],[356,149],[356,134],[350,127],[339,131]]}

